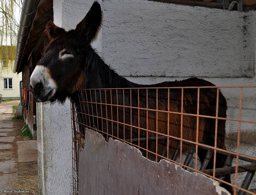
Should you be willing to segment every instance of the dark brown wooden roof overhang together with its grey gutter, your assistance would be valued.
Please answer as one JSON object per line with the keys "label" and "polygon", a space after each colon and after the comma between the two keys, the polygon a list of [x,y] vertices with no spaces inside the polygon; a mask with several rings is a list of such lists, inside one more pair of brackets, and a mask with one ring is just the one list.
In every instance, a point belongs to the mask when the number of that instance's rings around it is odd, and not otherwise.
{"label": "dark brown wooden roof overhang together with its grey gutter", "polygon": [[[39,52],[46,23],[53,17],[52,0],[24,0],[20,15],[14,73],[26,66],[31,51]],[[34,51],[35,52],[35,51]]]}

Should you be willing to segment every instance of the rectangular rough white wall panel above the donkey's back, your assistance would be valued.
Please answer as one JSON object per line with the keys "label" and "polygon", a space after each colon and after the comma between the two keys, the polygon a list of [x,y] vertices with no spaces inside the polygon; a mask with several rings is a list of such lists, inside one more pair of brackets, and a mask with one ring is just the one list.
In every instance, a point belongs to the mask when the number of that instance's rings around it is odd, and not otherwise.
{"label": "rectangular rough white wall panel above the donkey's back", "polygon": [[121,75],[253,76],[249,12],[147,0],[105,0],[103,10],[104,58]]}

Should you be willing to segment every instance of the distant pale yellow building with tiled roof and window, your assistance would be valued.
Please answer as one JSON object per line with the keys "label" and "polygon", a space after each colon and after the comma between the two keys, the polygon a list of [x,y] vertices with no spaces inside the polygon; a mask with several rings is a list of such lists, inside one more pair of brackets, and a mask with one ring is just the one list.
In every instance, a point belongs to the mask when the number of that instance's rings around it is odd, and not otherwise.
{"label": "distant pale yellow building with tiled roof and window", "polygon": [[[6,46],[5,46],[6,47]],[[11,61],[10,57],[10,46],[8,47],[8,54],[6,55],[5,49],[1,49],[1,62],[0,62],[0,94],[5,98],[19,98],[20,97],[20,80],[22,75],[14,74],[10,68]],[[0,59],[1,59],[0,58]]]}

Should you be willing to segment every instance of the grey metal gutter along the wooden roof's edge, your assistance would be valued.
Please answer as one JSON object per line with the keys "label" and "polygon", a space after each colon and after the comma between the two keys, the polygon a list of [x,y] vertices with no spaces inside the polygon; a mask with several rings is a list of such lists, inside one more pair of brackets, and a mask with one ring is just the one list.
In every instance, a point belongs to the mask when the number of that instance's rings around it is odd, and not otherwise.
{"label": "grey metal gutter along the wooden roof's edge", "polygon": [[16,73],[20,67],[20,61],[32,26],[31,19],[36,13],[36,3],[38,3],[36,0],[24,0],[22,4],[13,73]]}

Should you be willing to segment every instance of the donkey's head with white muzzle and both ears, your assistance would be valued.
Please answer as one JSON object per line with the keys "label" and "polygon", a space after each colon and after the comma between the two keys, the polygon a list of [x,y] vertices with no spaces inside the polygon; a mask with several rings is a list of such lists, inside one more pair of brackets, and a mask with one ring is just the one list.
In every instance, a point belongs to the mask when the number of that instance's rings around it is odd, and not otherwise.
{"label": "donkey's head with white muzzle and both ears", "polygon": [[49,44],[37,62],[30,77],[30,88],[37,102],[64,101],[67,96],[80,91],[86,82],[86,53],[100,29],[102,13],[100,4],[94,2],[85,18],[75,30],[65,31],[53,22],[46,25]]}

